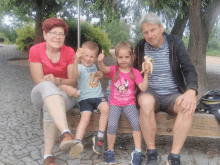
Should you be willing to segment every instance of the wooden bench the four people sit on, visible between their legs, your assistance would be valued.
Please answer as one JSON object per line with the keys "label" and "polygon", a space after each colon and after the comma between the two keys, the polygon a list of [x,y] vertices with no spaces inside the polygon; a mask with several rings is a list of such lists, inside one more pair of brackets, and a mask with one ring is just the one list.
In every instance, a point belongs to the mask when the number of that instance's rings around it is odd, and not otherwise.
{"label": "wooden bench the four people sit on, visible between their legs", "polygon": [[[98,131],[100,113],[93,113],[90,124],[86,131]],[[173,135],[173,125],[176,117],[165,112],[156,114],[157,134],[158,135]],[[67,112],[67,120],[71,130],[76,130],[80,113],[78,108],[73,108]],[[132,133],[130,123],[122,113],[119,121],[118,132]],[[196,112],[193,117],[193,124],[188,136],[220,138],[220,125],[212,114],[202,114]]]}

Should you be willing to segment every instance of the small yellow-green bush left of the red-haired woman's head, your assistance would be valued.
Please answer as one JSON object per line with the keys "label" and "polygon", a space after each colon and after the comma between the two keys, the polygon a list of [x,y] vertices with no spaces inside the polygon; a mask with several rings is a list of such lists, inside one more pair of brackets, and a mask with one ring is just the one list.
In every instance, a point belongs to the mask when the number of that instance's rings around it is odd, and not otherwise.
{"label": "small yellow-green bush left of the red-haired woman's head", "polygon": [[26,24],[24,28],[19,28],[15,30],[18,38],[16,39],[16,44],[18,45],[18,50],[27,51],[33,46],[34,41],[34,27],[32,25]]}

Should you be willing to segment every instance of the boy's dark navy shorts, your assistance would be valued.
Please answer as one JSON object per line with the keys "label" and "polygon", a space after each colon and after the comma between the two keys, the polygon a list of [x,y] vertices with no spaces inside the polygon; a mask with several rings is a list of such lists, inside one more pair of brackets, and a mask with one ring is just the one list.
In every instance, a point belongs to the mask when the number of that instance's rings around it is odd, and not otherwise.
{"label": "boy's dark navy shorts", "polygon": [[102,102],[107,102],[104,97],[81,100],[79,102],[80,113],[85,111],[89,111],[92,113],[94,109],[98,110],[98,107]]}

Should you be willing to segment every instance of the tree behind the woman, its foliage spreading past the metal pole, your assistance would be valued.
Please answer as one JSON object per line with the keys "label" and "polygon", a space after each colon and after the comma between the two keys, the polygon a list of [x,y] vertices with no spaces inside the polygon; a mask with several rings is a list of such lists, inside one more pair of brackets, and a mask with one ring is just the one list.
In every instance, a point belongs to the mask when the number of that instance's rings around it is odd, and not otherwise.
{"label": "tree behind the woman, its foliage spreading past the metal pole", "polygon": [[[119,0],[84,0],[80,1],[82,10],[87,15],[94,13],[101,20],[119,19],[126,11]],[[1,0],[0,10],[5,14],[12,14],[25,22],[35,22],[35,43],[43,40],[42,22],[49,17],[73,18],[77,13],[76,0]],[[82,13],[82,14],[84,14]],[[1,16],[1,15],[0,15]],[[88,17],[89,18],[89,17]]]}

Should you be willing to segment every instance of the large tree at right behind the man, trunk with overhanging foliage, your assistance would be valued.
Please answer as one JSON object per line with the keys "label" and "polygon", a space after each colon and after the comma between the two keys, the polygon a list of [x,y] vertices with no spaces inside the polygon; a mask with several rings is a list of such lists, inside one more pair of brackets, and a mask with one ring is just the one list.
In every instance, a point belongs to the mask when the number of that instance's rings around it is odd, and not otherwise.
{"label": "large tree at right behind the man, trunk with overhanging foliage", "polygon": [[[159,15],[165,14],[166,25],[174,24],[171,31],[182,36],[189,20],[190,39],[188,52],[196,67],[199,81],[199,96],[207,91],[206,79],[206,50],[209,35],[220,12],[219,0],[169,0],[169,1],[141,1],[148,3],[149,10]],[[145,7],[143,7],[145,8]],[[172,19],[172,16],[174,19]]]}

